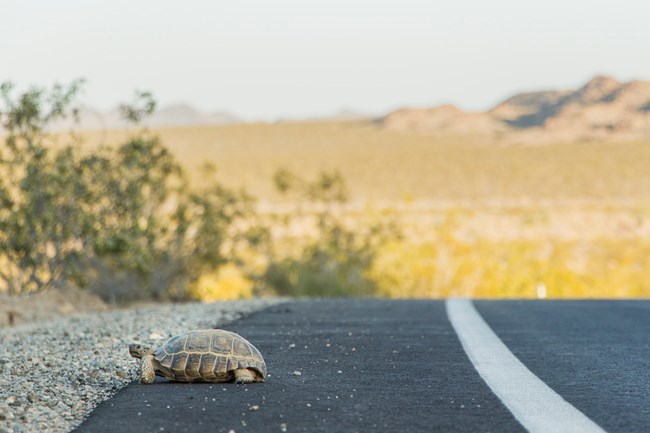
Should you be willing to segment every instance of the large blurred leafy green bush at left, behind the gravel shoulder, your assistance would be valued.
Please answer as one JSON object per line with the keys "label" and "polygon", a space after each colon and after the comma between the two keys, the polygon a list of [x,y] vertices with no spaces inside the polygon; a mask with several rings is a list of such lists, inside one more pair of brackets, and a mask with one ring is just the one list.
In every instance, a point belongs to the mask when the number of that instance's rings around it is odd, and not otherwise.
{"label": "large blurred leafy green bush at left, behind the gravel shoulder", "polygon": [[[147,130],[96,151],[57,143],[47,127],[75,113],[80,85],[17,98],[10,84],[0,88],[4,290],[75,284],[113,302],[186,298],[192,283],[248,241],[240,220],[252,201],[214,180],[191,190],[175,157]],[[139,93],[122,111],[137,124],[154,109],[151,95]]]}

